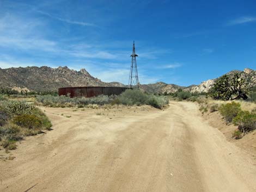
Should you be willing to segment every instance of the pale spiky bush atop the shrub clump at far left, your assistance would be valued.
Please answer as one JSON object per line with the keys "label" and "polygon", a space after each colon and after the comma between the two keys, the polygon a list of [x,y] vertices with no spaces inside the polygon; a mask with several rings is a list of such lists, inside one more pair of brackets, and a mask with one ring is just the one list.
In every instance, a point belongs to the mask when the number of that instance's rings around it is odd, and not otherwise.
{"label": "pale spiky bush atop the shrub clump at far left", "polygon": [[12,115],[24,115],[24,114],[32,114],[32,110],[34,110],[34,106],[31,104],[27,104],[25,102],[9,102],[7,104],[6,110]]}

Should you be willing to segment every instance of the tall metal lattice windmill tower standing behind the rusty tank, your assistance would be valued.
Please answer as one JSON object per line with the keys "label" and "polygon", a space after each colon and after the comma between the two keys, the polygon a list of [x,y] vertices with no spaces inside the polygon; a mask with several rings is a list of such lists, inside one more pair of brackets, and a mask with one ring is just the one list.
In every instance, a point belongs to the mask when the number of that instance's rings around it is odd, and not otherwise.
{"label": "tall metal lattice windmill tower standing behind the rusty tank", "polygon": [[136,57],[138,57],[138,55],[135,53],[134,41],[133,41],[131,57],[132,57],[132,60],[131,60],[131,71],[130,71],[130,77],[129,77],[129,87],[139,88],[139,84],[138,84],[139,79],[138,79],[137,61],[136,61]]}

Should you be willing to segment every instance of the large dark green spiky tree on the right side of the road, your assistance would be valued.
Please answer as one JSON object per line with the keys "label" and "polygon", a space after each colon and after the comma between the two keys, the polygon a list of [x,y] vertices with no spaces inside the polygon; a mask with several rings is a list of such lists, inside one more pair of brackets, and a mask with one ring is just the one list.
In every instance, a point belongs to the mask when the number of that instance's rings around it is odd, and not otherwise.
{"label": "large dark green spiky tree on the right side of the road", "polygon": [[247,85],[239,73],[233,75],[223,75],[218,78],[210,89],[209,93],[215,100],[237,100],[242,98],[246,100],[247,97]]}

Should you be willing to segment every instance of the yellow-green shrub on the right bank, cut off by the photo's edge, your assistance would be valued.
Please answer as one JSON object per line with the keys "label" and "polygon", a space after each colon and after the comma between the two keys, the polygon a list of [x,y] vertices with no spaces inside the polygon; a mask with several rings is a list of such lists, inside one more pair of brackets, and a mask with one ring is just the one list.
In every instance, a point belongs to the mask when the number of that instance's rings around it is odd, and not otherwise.
{"label": "yellow-green shrub on the right bank, cut off by the photo's edge", "polygon": [[256,113],[248,111],[241,111],[233,119],[235,125],[239,126],[243,133],[256,129]]}

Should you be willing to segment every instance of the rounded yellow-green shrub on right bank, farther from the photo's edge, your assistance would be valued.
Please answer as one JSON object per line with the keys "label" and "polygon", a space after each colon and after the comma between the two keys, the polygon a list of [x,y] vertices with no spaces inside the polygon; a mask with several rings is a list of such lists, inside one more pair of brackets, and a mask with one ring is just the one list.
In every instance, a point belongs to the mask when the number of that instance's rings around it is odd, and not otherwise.
{"label": "rounded yellow-green shrub on right bank, farther from the photo's edge", "polygon": [[234,117],[241,112],[241,106],[236,102],[222,104],[219,111],[227,122],[232,122]]}

